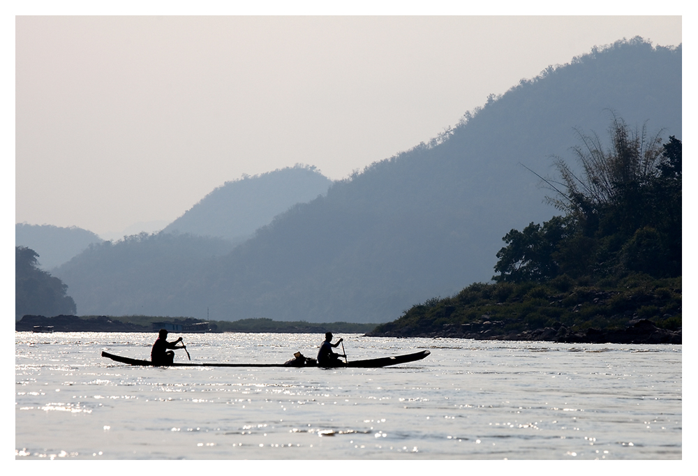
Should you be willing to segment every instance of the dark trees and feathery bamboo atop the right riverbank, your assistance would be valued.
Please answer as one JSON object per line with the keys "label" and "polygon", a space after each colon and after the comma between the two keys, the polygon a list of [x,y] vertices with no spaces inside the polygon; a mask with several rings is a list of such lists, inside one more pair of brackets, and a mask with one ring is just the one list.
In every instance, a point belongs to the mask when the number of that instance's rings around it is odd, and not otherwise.
{"label": "dark trees and feathery bamboo atop the right riverbank", "polygon": [[494,281],[681,276],[681,140],[661,145],[617,117],[609,135],[605,149],[596,135],[580,134],[581,173],[556,160],[560,179],[544,182],[565,216],[507,233]]}

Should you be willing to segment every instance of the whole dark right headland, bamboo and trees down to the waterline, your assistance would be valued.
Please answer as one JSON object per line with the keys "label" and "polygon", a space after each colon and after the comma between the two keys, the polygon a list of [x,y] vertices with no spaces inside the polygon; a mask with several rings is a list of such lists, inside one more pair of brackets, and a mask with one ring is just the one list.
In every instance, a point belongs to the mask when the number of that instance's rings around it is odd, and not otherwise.
{"label": "whole dark right headland, bamboo and trees down to the waterline", "polygon": [[[681,343],[681,141],[621,119],[545,179],[564,216],[511,230],[494,284],[428,299],[372,335]],[[662,330],[663,329],[663,330]],[[678,333],[677,333],[678,331]]]}

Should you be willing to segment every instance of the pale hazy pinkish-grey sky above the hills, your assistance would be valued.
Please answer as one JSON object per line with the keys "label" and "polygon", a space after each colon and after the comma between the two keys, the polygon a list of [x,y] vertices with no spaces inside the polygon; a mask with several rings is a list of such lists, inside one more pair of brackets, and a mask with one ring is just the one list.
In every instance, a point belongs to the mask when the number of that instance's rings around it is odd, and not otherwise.
{"label": "pale hazy pinkish-grey sky above the hills", "polygon": [[[346,177],[681,17],[17,17],[15,220],[172,221],[242,174]],[[117,235],[118,236],[118,235]]]}

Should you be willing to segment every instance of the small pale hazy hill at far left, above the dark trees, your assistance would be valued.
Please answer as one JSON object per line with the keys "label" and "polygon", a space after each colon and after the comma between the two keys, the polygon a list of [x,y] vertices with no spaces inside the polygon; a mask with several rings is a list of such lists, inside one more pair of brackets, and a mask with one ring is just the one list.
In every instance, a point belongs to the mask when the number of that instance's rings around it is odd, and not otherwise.
{"label": "small pale hazy hill at far left, above the dark trees", "polygon": [[101,243],[91,231],[75,226],[15,224],[15,246],[26,246],[38,253],[38,267],[53,269],[73,258],[91,243]]}

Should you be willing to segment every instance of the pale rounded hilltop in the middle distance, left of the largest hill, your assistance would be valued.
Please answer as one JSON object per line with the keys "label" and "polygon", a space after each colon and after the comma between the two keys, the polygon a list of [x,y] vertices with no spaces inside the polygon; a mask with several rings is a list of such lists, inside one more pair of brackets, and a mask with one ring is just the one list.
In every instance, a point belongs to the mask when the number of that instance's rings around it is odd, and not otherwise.
{"label": "pale rounded hilltop in the middle distance, left of the largest hill", "polygon": [[330,185],[332,181],[314,167],[303,165],[228,181],[166,226],[163,232],[241,241],[292,205],[327,193]]}

